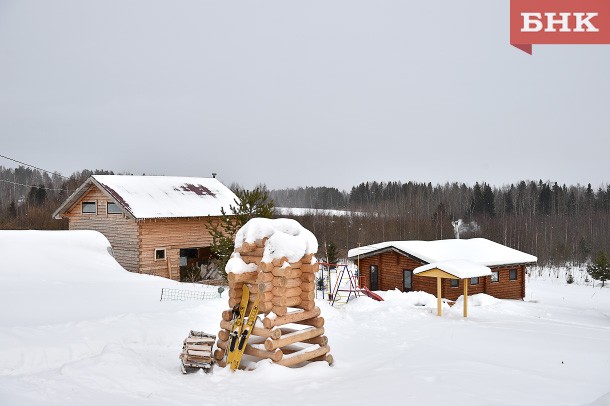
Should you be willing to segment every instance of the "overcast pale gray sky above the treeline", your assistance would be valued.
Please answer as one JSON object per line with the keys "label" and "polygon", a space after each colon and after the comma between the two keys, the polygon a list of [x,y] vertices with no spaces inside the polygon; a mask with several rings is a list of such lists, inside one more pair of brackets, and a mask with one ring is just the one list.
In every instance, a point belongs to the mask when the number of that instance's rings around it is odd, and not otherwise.
{"label": "overcast pale gray sky above the treeline", "polygon": [[508,0],[0,0],[0,154],[247,187],[608,182],[610,46],[508,40]]}

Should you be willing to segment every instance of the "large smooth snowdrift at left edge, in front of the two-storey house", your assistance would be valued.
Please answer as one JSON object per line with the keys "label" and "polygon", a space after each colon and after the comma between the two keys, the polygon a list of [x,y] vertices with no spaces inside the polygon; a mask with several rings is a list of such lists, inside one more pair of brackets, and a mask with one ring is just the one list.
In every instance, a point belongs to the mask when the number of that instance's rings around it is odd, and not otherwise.
{"label": "large smooth snowdrift at left edge, in front of the two-storey house", "polygon": [[[148,309],[169,279],[126,271],[97,231],[0,231],[0,326],[108,317]],[[37,303],[33,305],[31,303]],[[1,333],[0,333],[1,335]],[[0,354],[1,357],[1,354]]]}

